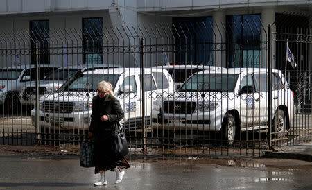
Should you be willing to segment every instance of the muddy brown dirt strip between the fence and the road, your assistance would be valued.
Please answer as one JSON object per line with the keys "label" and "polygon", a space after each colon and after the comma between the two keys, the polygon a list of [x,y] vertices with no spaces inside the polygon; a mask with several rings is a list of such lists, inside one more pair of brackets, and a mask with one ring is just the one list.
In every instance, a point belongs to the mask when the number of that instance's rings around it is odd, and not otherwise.
{"label": "muddy brown dirt strip between the fence and the road", "polygon": [[[68,146],[9,146],[0,145],[0,156],[17,156],[17,157],[32,157],[33,159],[79,159],[78,147]],[[273,167],[273,168],[288,168],[288,169],[304,169],[308,167],[312,169],[312,162],[300,161],[295,159],[268,159],[263,157],[218,157],[213,155],[208,156],[179,156],[179,155],[159,155],[154,157],[139,154],[139,151],[131,151],[128,159],[136,160],[136,162],[159,162],[163,164],[212,164],[219,166],[239,166],[239,167]]]}

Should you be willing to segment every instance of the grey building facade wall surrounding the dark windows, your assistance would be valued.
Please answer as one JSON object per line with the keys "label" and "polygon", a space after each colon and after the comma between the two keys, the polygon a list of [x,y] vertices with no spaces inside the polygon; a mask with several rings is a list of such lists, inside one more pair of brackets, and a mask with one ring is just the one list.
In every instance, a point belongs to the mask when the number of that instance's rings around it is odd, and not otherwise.
{"label": "grey building facade wall surrounding the dark windows", "polygon": [[[26,1],[28,2],[26,4]],[[147,65],[164,64],[164,53],[172,62],[172,17],[212,16],[214,19],[214,42],[225,42],[226,15],[261,14],[261,35],[266,41],[268,24],[275,21],[275,12],[291,11],[294,5],[309,7],[311,1],[199,1],[199,0],[0,0],[0,46],[8,51],[2,64],[22,62],[29,64],[29,21],[48,19],[50,27],[50,61],[58,65],[83,64],[82,19],[103,17],[104,61],[124,66],[139,66],[139,45],[144,37]],[[247,8],[248,7],[248,8]],[[186,10],[186,11],[184,11]],[[157,44],[155,49],[150,44]],[[166,44],[166,45],[164,45]],[[130,49],[118,49],[130,46]],[[265,44],[263,44],[264,48]],[[154,48],[154,49],[153,49]],[[225,46],[215,46],[212,55],[215,65],[225,67]],[[272,44],[272,50],[275,44]],[[16,51],[17,50],[17,51]],[[151,53],[155,52],[157,53]],[[121,52],[121,53],[118,53]],[[18,55],[16,58],[16,55]],[[261,52],[261,67],[266,67],[267,52]],[[309,60],[311,62],[311,58]],[[272,52],[275,67],[275,54]],[[311,64],[310,64],[311,65]]]}

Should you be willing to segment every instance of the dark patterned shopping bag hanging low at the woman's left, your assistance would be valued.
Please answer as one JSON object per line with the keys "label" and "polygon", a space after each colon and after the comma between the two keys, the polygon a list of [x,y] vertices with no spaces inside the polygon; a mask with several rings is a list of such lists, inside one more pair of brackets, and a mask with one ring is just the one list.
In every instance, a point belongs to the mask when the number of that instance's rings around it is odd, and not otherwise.
{"label": "dark patterned shopping bag hanging low at the woman's left", "polygon": [[80,166],[85,168],[94,166],[94,144],[90,141],[80,143]]}

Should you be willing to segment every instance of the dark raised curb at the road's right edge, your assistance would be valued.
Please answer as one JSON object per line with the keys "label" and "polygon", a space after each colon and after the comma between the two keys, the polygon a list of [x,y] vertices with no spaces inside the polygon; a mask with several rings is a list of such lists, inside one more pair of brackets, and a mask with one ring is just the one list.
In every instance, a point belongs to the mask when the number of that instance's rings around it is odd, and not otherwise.
{"label": "dark raised curb at the road's right edge", "polygon": [[266,150],[263,151],[263,157],[266,158],[284,158],[284,159],[299,159],[303,161],[312,162],[312,155],[311,154],[304,154],[304,153],[285,153],[283,151],[276,151],[276,150]]}

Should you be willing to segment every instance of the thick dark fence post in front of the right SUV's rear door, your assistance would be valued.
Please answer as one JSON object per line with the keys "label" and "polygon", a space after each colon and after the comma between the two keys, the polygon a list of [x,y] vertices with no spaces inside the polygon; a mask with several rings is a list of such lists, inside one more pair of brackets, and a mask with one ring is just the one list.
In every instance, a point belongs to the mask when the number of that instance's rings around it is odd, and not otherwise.
{"label": "thick dark fence post in front of the right SUV's rear door", "polygon": [[268,26],[268,148],[272,146],[271,132],[272,132],[272,64],[271,64],[271,25]]}

